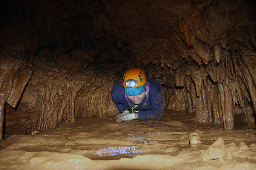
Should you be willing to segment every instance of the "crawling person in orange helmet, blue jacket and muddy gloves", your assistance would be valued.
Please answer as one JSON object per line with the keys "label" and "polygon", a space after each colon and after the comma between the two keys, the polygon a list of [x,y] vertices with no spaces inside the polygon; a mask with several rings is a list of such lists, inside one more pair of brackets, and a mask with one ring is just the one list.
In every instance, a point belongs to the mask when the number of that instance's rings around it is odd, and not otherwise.
{"label": "crawling person in orange helmet, blue jacket and muddy gloves", "polygon": [[112,99],[121,114],[117,122],[157,120],[162,118],[163,88],[153,78],[147,78],[141,68],[124,72],[123,80],[112,88]]}

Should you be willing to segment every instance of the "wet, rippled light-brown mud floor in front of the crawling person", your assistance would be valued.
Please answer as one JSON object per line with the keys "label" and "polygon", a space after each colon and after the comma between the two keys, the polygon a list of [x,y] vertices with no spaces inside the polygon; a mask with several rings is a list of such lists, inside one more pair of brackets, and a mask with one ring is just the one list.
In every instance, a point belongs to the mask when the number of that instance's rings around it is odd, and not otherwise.
{"label": "wet, rippled light-brown mud floor in front of the crawling person", "polygon": [[255,169],[255,127],[224,131],[194,113],[165,109],[158,121],[77,119],[0,141],[0,169]]}

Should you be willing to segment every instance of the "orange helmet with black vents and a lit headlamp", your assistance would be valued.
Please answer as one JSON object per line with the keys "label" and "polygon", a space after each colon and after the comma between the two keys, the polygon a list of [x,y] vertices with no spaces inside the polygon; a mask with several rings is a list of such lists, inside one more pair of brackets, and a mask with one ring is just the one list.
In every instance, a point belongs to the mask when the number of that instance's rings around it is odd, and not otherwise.
{"label": "orange helmet with black vents and a lit headlamp", "polygon": [[139,87],[147,83],[145,72],[141,68],[130,68],[124,72],[123,87]]}

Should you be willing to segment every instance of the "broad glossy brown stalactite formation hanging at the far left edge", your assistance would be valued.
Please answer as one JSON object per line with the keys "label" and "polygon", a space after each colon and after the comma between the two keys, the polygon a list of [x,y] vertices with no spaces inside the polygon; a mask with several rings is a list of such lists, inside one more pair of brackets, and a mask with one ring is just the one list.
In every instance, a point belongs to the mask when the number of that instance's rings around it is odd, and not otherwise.
{"label": "broad glossy brown stalactite formation hanging at the far left edge", "polygon": [[[15,54],[13,54],[15,55]],[[5,102],[16,107],[32,75],[32,70],[18,59],[0,52],[0,138],[3,136]]]}

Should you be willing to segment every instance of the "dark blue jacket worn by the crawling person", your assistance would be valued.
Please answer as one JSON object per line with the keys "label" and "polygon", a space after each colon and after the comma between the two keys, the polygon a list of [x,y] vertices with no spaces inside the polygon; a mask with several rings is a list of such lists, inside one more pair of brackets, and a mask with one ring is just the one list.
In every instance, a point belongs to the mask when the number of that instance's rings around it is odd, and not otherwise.
{"label": "dark blue jacket worn by the crawling person", "polygon": [[[163,114],[164,91],[162,85],[155,81],[153,78],[147,78],[147,81],[150,82],[150,84],[148,84],[150,88],[147,96],[145,96],[141,104],[139,104],[135,110],[139,110],[138,120],[157,120],[162,118]],[[128,103],[125,95],[126,94],[122,83],[117,82],[112,88],[112,99],[120,112],[132,109],[132,107],[135,105],[132,101],[129,101]],[[146,105],[144,105],[144,102]]]}

